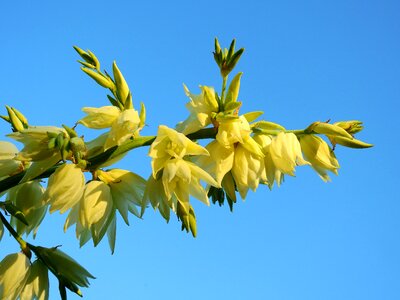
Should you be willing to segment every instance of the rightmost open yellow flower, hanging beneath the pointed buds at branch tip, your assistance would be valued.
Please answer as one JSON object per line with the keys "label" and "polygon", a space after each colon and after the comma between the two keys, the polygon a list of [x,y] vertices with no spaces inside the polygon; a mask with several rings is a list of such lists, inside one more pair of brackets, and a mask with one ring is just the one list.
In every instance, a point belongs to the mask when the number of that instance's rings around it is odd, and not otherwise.
{"label": "rightmost open yellow flower, hanging beneath the pointed buds at branch tip", "polygon": [[339,162],[328,144],[319,136],[306,134],[300,137],[300,145],[304,156],[323,181],[329,181],[327,171],[337,175]]}

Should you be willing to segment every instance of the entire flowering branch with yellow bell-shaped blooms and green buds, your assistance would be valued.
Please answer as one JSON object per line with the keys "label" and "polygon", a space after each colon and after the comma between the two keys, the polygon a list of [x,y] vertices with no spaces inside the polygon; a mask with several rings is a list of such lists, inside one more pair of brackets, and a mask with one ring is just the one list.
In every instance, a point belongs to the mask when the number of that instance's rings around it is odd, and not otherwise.
{"label": "entire flowering branch with yellow bell-shaped blooms and green buds", "polygon": [[[50,213],[68,212],[64,230],[75,225],[81,246],[90,239],[96,246],[107,234],[113,252],[117,212],[129,224],[129,213],[141,218],[149,205],[167,221],[173,211],[182,229],[195,236],[191,196],[206,205],[209,198],[220,204],[226,199],[232,206],[236,192],[245,199],[249,189],[255,191],[260,183],[269,188],[275,182],[280,185],[284,175],[294,176],[300,165],[310,165],[328,181],[328,171],[337,174],[339,168],[333,151],[336,144],[371,146],[354,138],[362,129],[360,121],[315,122],[304,130],[286,130],[276,123],[256,121],[261,112],[239,114],[242,74],[234,76],[229,87],[226,84],[243,50],[235,52],[234,43],[229,50],[222,50],[217,42],[214,58],[223,77],[221,95],[208,86],[201,86],[196,95],[184,86],[189,97],[188,118],[175,129],[160,125],[155,137],[142,137],[145,107],[142,104],[140,112],[133,107],[131,92],[117,65],[113,65],[112,78],[100,71],[92,52],[75,49],[83,59],[82,70],[111,92],[111,105],[84,107],[86,116],[76,125],[109,130],[85,142],[75,127],[30,126],[18,110],[7,106],[8,116],[2,118],[12,126],[13,133],[8,136],[24,147],[18,151],[12,143],[0,142],[0,192],[6,193],[0,208],[11,215],[8,224],[0,213],[0,239],[4,223],[23,250],[0,263],[0,295],[6,299],[47,299],[48,270],[64,290],[78,294],[78,286],[87,287],[87,278],[93,278],[57,248],[22,240],[23,234],[36,235],[48,209]],[[319,135],[330,140],[332,147]],[[197,142],[204,138],[211,139],[205,147]],[[147,180],[131,171],[104,169],[127,151],[145,145],[150,145],[152,167]],[[46,177],[44,188],[40,178]],[[3,188],[2,183],[10,180],[15,184]],[[33,263],[31,251],[38,258]]]}

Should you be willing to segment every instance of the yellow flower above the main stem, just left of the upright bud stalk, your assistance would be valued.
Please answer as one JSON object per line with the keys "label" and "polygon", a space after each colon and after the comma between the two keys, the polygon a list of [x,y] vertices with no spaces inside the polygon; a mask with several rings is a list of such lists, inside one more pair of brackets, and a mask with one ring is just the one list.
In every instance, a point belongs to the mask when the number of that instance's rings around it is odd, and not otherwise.
{"label": "yellow flower above the main stem, just left of the upright bud stalk", "polygon": [[190,102],[186,108],[190,111],[189,117],[177,125],[177,130],[189,134],[211,124],[212,114],[218,113],[218,102],[212,87],[200,86],[201,94],[194,95],[184,85],[186,96]]}

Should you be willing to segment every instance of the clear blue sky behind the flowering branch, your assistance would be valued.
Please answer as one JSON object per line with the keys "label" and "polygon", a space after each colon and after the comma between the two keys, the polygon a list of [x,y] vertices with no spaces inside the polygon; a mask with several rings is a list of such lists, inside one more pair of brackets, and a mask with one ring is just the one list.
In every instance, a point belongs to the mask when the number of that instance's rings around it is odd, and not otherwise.
{"label": "clear blue sky behind the flowering branch", "polygon": [[[79,45],[103,68],[118,62],[135,103],[146,104],[143,134],[174,126],[187,116],[182,83],[220,89],[211,55],[217,36],[246,48],[237,67],[242,112],[263,110],[293,129],[359,119],[359,137],[375,144],[338,148],[341,169],[331,183],[298,168],[281,188],[249,193],[233,214],[194,200],[196,239],[175,218],[166,224],[148,210],[130,227],[118,223],[111,256],[105,240],[79,249],[73,230],[62,232],[66,216],[51,215],[35,243],[62,244],[97,276],[84,299],[398,299],[398,1],[56,2],[0,3],[0,104],[32,124],[72,125],[81,107],[107,104],[79,70],[72,49]],[[1,135],[7,130],[2,123]],[[129,154],[119,167],[147,177],[146,153]],[[1,258],[16,251],[4,237]]]}

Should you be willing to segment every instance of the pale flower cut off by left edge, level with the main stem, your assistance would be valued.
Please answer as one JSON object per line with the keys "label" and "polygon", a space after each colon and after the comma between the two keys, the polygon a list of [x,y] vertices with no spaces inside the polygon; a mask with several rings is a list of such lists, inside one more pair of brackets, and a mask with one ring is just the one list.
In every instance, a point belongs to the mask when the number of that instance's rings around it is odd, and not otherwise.
{"label": "pale flower cut off by left edge, level with the main stem", "polygon": [[16,174],[24,169],[22,162],[15,160],[17,147],[10,142],[0,141],[0,178]]}

